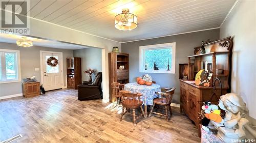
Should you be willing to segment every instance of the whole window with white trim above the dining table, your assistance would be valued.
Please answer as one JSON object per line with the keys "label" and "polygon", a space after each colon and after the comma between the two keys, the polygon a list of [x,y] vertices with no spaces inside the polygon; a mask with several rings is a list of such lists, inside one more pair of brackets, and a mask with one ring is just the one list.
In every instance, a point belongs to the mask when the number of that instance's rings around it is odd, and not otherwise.
{"label": "whole window with white trim above the dining table", "polygon": [[175,73],[175,50],[175,42],[140,46],[140,72]]}

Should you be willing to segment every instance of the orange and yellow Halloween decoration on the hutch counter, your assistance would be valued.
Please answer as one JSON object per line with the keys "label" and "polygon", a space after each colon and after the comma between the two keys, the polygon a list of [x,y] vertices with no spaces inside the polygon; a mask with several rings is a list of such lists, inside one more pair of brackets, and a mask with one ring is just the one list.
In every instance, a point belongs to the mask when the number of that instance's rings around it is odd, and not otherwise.
{"label": "orange and yellow Halloween decoration on the hutch counter", "polygon": [[201,85],[204,87],[209,87],[210,86],[210,79],[212,76],[212,72],[206,72],[203,70],[200,70],[197,74],[196,74],[196,78],[195,78],[195,83],[196,85]]}

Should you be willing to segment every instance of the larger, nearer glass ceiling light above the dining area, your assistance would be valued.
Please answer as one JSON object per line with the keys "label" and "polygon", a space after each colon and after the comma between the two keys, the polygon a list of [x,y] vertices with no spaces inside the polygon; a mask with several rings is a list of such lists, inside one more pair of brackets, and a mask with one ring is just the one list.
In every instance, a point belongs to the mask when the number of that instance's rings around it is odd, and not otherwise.
{"label": "larger, nearer glass ceiling light above the dining area", "polygon": [[131,31],[137,27],[137,16],[129,13],[129,9],[122,9],[122,13],[115,17],[115,27],[121,31]]}

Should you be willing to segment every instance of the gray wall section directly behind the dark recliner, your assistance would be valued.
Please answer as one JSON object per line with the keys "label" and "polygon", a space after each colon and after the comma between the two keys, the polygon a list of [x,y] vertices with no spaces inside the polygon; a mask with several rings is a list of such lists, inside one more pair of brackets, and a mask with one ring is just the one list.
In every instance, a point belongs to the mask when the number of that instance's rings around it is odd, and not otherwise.
{"label": "gray wall section directly behind the dark recliner", "polygon": [[89,77],[86,76],[83,71],[87,69],[93,69],[95,72],[93,74],[93,78],[95,73],[102,71],[101,70],[101,49],[100,48],[85,48],[74,50],[74,56],[81,58],[82,63],[82,81],[88,81]]}

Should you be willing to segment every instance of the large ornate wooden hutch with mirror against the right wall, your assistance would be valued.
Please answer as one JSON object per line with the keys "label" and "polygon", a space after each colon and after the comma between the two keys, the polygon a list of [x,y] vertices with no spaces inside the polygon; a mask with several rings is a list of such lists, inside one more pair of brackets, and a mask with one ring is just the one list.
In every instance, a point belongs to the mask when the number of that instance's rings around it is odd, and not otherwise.
{"label": "large ornate wooden hutch with mirror against the right wall", "polygon": [[[230,37],[215,42],[204,44],[206,53],[187,56],[188,64],[180,64],[180,111],[184,111],[188,118],[196,124],[198,128],[198,112],[203,105],[200,101],[208,101],[212,92],[212,81],[219,78],[222,82],[222,95],[228,93],[230,87],[230,66],[232,54],[232,41]],[[200,50],[199,50],[200,52]],[[206,62],[207,61],[207,62]],[[204,64],[209,63],[210,66]],[[183,68],[186,66],[186,68]],[[212,71],[210,87],[203,87],[195,84],[195,76],[201,69]],[[216,69],[222,69],[221,74],[216,73]],[[184,71],[185,70],[185,71]],[[184,73],[187,77],[184,78]],[[221,94],[220,85],[217,84],[217,95]],[[213,99],[212,101],[217,101]],[[199,130],[200,131],[200,130]]]}

